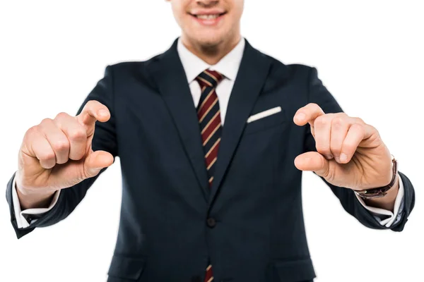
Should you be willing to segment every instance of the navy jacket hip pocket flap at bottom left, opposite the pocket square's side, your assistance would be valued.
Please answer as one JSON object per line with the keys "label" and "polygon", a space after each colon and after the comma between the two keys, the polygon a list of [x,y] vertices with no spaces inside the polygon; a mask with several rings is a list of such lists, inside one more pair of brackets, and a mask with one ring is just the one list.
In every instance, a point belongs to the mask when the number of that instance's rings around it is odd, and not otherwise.
{"label": "navy jacket hip pocket flap at bottom left, opposite the pocket square's side", "polygon": [[114,255],[107,275],[137,281],[141,277],[145,265],[146,259],[143,257]]}

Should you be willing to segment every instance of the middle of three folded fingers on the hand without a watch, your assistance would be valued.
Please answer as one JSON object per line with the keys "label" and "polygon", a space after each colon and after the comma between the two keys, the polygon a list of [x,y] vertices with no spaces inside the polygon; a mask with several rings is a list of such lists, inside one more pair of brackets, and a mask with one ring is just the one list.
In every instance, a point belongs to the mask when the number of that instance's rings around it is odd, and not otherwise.
{"label": "middle of three folded fingers on the hand without a watch", "polygon": [[38,126],[40,133],[45,135],[45,138],[54,151],[56,164],[65,164],[69,160],[70,146],[65,133],[50,118],[45,118]]}

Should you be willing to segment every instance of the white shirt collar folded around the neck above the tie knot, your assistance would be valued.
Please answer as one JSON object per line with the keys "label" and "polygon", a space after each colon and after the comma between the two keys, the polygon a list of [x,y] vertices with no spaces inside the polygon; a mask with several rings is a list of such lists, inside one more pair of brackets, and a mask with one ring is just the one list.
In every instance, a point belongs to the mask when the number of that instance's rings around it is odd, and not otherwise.
{"label": "white shirt collar folded around the neck above the tie knot", "polygon": [[220,59],[220,61],[213,66],[189,51],[189,49],[182,44],[181,37],[178,39],[177,51],[189,83],[206,69],[218,71],[218,73],[224,75],[225,78],[235,80],[240,63],[242,62],[243,51],[245,51],[245,39],[240,39],[240,42],[230,53],[226,54],[223,59]]}

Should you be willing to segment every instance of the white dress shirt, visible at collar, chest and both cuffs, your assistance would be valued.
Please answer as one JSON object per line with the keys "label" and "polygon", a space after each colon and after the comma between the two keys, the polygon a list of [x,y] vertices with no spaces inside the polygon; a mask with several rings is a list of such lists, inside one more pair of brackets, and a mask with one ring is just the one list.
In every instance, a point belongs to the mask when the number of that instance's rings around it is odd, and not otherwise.
{"label": "white dress shirt, visible at collar, chest and both cuffs", "polygon": [[[199,82],[195,79],[197,75],[202,73],[206,69],[210,69],[211,71],[218,71],[221,73],[224,78],[216,87],[216,94],[218,95],[218,102],[220,107],[220,117],[221,123],[224,124],[225,114],[227,112],[228,101],[230,99],[230,94],[232,91],[232,86],[234,85],[235,78],[237,76],[237,72],[240,67],[240,63],[242,61],[243,51],[245,49],[245,39],[242,38],[237,46],[230,51],[223,59],[221,59],[216,65],[209,65],[208,63],[202,61],[196,55],[192,54],[184,44],[182,44],[181,39],[178,40],[177,51],[179,58],[181,59],[182,66],[187,76],[187,82],[189,83],[190,91],[192,92],[194,106],[197,107],[199,104],[201,89],[199,86]],[[365,207],[365,209],[369,210],[380,224],[390,227],[392,224],[396,223],[401,219],[401,212],[404,207],[404,184],[402,183],[402,179],[399,177],[399,192],[396,197],[396,202],[394,205],[394,212],[391,212],[386,209],[379,209],[376,207],[369,207],[365,204],[365,202],[357,196],[358,201]],[[13,179],[13,187],[16,187],[15,180]],[[30,226],[30,223],[34,223],[37,219],[32,219],[28,222],[28,216],[41,216],[45,212],[48,212],[57,202],[59,198],[60,190],[56,192],[52,203],[48,208],[44,209],[25,209],[21,211],[20,203],[18,199],[18,193],[16,189],[12,189],[12,199],[13,199],[13,207],[14,212],[16,214],[16,223],[18,228],[25,228]],[[395,216],[396,214],[396,216]]]}

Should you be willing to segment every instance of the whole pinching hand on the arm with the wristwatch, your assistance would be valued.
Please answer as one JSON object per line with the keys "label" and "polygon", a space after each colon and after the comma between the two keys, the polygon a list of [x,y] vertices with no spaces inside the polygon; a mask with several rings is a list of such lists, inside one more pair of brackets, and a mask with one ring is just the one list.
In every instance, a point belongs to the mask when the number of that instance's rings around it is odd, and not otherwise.
{"label": "whole pinching hand on the arm with the wristwatch", "polygon": [[297,125],[310,124],[317,152],[295,158],[301,171],[314,171],[338,187],[365,190],[388,185],[391,154],[372,125],[345,113],[324,114],[310,103],[296,111]]}

